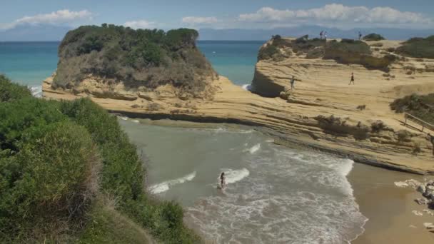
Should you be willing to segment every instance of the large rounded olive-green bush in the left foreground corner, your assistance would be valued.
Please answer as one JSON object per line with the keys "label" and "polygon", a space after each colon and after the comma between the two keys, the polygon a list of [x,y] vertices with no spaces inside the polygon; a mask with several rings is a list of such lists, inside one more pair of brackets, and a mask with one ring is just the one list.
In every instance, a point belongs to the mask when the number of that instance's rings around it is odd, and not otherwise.
{"label": "large rounded olive-green bush in the left foreground corner", "polygon": [[99,153],[86,129],[69,121],[34,129],[0,160],[0,233],[8,233],[0,240],[56,240],[84,221],[99,188]]}

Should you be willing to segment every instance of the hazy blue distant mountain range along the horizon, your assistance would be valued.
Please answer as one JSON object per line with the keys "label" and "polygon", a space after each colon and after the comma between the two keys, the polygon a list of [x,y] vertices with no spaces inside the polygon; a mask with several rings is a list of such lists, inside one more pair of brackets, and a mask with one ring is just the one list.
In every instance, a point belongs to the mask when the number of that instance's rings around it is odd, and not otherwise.
{"label": "hazy blue distant mountain range along the horizon", "polygon": [[[0,31],[0,41],[60,41],[66,32],[73,29],[70,26],[52,25],[21,25],[14,29]],[[200,40],[215,41],[250,41],[268,40],[271,36],[279,34],[281,36],[319,36],[321,31],[327,31],[330,38],[350,38],[355,39],[358,31],[363,35],[378,33],[386,39],[406,40],[410,37],[426,37],[434,35],[434,29],[392,29],[392,28],[372,28],[372,29],[350,29],[341,30],[336,28],[324,28],[321,26],[297,26],[276,29],[200,29]]]}

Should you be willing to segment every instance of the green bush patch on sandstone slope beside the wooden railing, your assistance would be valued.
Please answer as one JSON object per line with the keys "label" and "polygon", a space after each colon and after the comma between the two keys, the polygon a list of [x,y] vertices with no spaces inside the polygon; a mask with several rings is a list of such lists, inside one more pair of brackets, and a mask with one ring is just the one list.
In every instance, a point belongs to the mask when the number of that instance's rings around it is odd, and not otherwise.
{"label": "green bush patch on sandstone slope beside the wooden railing", "polygon": [[396,113],[407,112],[434,124],[434,93],[428,95],[413,94],[398,98],[390,103],[390,108]]}

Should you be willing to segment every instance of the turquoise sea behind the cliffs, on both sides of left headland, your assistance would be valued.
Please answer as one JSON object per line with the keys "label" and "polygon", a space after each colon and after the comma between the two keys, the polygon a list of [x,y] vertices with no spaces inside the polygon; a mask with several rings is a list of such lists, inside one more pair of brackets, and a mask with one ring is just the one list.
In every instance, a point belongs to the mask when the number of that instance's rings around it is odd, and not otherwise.
{"label": "turquoise sea behind the cliffs, on both sides of left headland", "polygon": [[[256,56],[264,41],[198,41],[198,47],[216,71],[236,84],[251,83]],[[56,70],[59,41],[0,42],[0,73],[28,86]]]}

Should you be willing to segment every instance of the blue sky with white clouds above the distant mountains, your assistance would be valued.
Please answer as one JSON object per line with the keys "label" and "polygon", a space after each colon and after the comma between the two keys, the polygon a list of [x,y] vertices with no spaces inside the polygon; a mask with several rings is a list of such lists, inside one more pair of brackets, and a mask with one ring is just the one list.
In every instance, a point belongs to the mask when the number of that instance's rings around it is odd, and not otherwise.
{"label": "blue sky with white clouds above the distant mountains", "polygon": [[303,25],[338,29],[434,28],[434,0],[0,1],[0,31],[20,26],[103,23],[133,29],[273,29]]}

